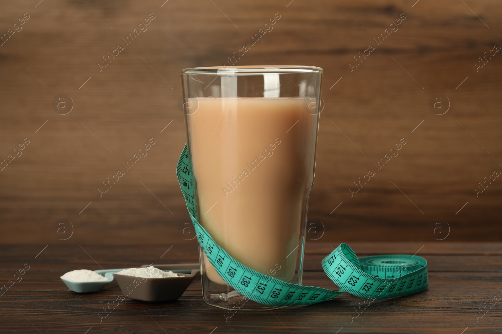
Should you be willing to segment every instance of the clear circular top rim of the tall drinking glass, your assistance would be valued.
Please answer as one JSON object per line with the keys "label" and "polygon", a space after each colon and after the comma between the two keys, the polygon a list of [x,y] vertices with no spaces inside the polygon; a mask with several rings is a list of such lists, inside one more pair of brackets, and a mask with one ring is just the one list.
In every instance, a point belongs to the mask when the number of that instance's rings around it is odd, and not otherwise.
{"label": "clear circular top rim of the tall drinking glass", "polygon": [[213,66],[192,67],[181,70],[181,75],[186,74],[261,74],[261,73],[321,73],[323,70],[316,66],[297,65],[256,65],[256,66]]}

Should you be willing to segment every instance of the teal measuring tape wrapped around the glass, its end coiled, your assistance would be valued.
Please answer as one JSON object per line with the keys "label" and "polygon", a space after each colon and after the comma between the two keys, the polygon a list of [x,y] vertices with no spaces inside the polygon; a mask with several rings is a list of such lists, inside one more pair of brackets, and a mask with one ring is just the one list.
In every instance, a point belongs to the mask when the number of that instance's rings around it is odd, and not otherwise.
{"label": "teal measuring tape wrapped around the glass, its end coiled", "polygon": [[329,300],[344,292],[366,299],[386,299],[428,289],[427,261],[416,255],[379,255],[357,258],[342,243],[322,261],[338,291],[287,283],[250,269],[232,258],[197,221],[195,181],[187,145],[181,153],[176,175],[195,227],[197,240],[209,263],[232,288],[253,301],[269,306],[308,305]]}

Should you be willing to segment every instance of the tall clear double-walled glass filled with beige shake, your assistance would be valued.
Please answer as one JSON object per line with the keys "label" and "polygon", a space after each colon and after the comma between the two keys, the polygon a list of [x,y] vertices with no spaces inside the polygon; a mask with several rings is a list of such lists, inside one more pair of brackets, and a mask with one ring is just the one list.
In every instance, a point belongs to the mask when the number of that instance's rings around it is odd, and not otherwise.
{"label": "tall clear double-walled glass filled with beige shake", "polygon": [[[311,66],[181,71],[199,223],[240,263],[297,284],[314,182],[321,75],[321,68]],[[229,286],[200,246],[199,256],[208,304],[265,309]]]}

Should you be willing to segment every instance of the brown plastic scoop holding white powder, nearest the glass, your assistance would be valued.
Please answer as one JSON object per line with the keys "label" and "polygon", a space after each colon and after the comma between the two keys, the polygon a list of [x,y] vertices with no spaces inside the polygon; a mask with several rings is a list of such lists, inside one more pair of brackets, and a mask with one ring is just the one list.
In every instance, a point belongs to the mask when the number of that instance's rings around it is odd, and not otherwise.
{"label": "brown plastic scoop holding white powder, nearest the glass", "polygon": [[200,274],[199,263],[145,264],[140,268],[150,265],[161,270],[173,271],[178,277],[145,278],[114,273],[125,297],[143,301],[176,300]]}

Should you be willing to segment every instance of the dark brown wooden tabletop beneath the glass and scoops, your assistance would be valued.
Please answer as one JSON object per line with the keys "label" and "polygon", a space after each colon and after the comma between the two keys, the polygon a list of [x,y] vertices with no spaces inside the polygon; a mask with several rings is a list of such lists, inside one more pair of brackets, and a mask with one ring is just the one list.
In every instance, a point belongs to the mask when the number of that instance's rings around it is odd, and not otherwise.
{"label": "dark brown wooden tabletop beneath the glass and scoops", "polygon": [[[2,284],[12,279],[16,271],[29,266],[22,280],[0,297],[0,332],[502,332],[502,300],[496,302],[502,297],[500,243],[352,243],[358,256],[418,251],[429,263],[428,291],[374,301],[365,309],[359,307],[368,304],[364,299],[342,295],[306,307],[231,313],[208,306],[202,300],[200,280],[196,279],[175,302],[149,303],[126,298],[103,317],[103,308],[121,295],[115,281],[101,292],[78,294],[69,291],[59,279],[73,269],[197,261],[195,240],[175,244],[166,253],[170,246],[0,246]],[[336,288],[320,265],[331,250],[329,242],[307,243],[305,285]],[[354,308],[360,309],[359,315]]]}

